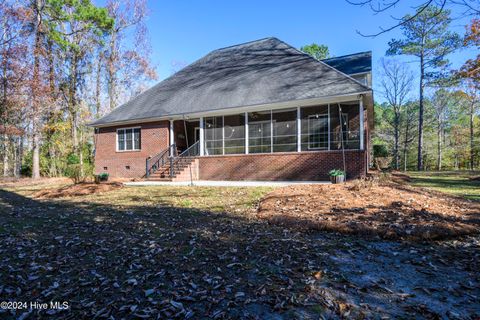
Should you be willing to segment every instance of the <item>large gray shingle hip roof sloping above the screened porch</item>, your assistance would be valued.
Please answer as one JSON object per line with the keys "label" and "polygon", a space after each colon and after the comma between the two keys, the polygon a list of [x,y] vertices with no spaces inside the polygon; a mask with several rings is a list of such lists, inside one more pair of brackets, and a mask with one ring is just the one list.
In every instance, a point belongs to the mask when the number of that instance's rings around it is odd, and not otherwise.
{"label": "large gray shingle hip roof sloping above the screened porch", "polygon": [[369,91],[276,38],[212,51],[91,125]]}

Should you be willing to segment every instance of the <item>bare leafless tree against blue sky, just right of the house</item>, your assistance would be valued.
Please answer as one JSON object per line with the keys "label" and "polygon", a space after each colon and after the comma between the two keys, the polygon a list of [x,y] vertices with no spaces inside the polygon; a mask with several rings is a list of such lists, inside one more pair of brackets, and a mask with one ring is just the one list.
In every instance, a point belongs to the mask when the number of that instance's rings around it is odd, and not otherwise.
{"label": "bare leafless tree against blue sky, just right of the house", "polygon": [[393,116],[387,121],[393,128],[393,159],[395,169],[398,170],[400,166],[399,143],[402,109],[412,89],[413,74],[406,64],[398,60],[382,59],[381,65],[380,86],[382,94],[393,111]]}

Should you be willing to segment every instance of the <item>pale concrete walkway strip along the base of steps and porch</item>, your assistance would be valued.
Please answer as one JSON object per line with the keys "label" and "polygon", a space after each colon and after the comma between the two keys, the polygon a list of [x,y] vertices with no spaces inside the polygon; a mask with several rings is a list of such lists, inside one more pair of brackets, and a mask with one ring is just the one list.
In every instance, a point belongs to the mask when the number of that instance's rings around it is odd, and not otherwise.
{"label": "pale concrete walkway strip along the base of steps and porch", "polygon": [[[135,181],[124,182],[126,186],[190,186],[190,181]],[[330,184],[329,181],[193,181],[198,187],[284,187],[297,184]]]}

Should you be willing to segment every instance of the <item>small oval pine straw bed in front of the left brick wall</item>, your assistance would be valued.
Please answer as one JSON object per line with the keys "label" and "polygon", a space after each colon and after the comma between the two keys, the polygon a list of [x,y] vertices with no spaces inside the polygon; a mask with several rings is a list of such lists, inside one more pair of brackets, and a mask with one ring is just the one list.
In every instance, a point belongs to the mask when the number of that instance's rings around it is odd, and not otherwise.
{"label": "small oval pine straw bed in front of the left brick wall", "polygon": [[61,188],[44,189],[34,194],[34,198],[40,199],[54,199],[64,197],[78,197],[88,194],[108,192],[123,188],[120,182],[109,183],[79,183],[63,186]]}

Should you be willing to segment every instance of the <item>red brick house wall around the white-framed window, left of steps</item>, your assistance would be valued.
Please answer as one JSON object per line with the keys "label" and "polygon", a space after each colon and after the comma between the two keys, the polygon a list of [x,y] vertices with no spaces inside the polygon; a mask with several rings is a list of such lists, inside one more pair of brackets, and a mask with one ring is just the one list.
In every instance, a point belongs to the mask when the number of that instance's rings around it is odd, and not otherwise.
{"label": "red brick house wall around the white-framed window, left of steps", "polygon": [[[119,128],[141,128],[140,151],[116,151]],[[139,178],[145,175],[145,159],[168,148],[168,121],[100,128],[95,134],[95,173],[107,172],[111,177]],[[106,168],[106,169],[105,169]]]}

